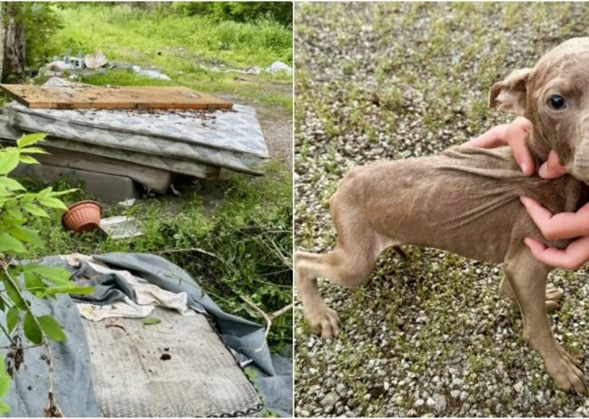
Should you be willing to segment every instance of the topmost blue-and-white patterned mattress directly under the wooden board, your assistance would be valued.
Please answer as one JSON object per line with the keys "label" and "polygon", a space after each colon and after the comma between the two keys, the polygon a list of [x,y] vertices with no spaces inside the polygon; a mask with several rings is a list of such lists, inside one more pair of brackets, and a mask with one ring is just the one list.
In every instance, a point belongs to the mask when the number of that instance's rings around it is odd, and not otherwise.
{"label": "topmost blue-and-white patterned mattress directly under the wooden board", "polygon": [[201,166],[198,173],[218,167],[260,175],[270,157],[256,112],[245,105],[234,105],[232,111],[121,111],[29,109],[10,103],[0,125],[0,136],[7,139],[44,132],[60,148],[75,144],[78,152],[98,149],[104,157],[120,153],[121,160],[191,176],[191,164]]}

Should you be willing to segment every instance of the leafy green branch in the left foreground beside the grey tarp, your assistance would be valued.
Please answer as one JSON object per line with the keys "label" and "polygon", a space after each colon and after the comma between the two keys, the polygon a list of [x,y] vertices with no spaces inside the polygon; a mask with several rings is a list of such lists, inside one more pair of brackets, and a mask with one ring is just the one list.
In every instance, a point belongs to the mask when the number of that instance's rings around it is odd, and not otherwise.
{"label": "leafy green branch in the left foreground beside the grey tarp", "polygon": [[[45,134],[23,136],[16,147],[0,150],[0,310],[4,321],[0,330],[8,342],[7,353],[0,357],[0,398],[8,394],[12,377],[24,362],[25,349],[44,346],[49,366],[48,402],[46,416],[62,416],[54,396],[54,361],[50,341],[67,341],[67,336],[52,316],[35,314],[31,298],[55,299],[56,294],[81,294],[92,292],[91,287],[78,287],[70,281],[70,273],[63,268],[44,267],[20,263],[18,258],[29,255],[28,247],[42,247],[38,231],[27,226],[32,218],[48,218],[43,207],[67,209],[60,196],[72,190],[55,192],[47,187],[38,193],[29,193],[18,181],[8,176],[19,163],[38,164],[32,154],[45,153],[35,146]],[[22,334],[29,341],[23,344]],[[10,410],[0,401],[0,414]]]}

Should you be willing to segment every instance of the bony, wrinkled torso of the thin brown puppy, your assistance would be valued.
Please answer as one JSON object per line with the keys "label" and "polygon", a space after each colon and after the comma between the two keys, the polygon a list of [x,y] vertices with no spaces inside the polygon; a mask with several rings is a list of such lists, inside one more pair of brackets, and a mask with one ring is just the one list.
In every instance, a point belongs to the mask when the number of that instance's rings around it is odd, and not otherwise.
{"label": "bony, wrinkled torso of the thin brown puppy", "polygon": [[[580,185],[568,176],[525,177],[508,147],[452,147],[434,156],[354,168],[332,205],[360,207],[375,233],[399,242],[501,262],[524,211],[521,195],[554,212],[572,210]],[[531,219],[529,233],[539,236]]]}

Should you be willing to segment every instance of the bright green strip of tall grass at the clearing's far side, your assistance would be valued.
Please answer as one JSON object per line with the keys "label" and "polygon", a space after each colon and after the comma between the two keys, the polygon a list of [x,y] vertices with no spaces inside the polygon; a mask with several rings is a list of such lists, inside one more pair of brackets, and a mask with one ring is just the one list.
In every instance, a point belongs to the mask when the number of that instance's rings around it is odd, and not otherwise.
{"label": "bright green strip of tall grass at the clearing's far side", "polygon": [[49,40],[52,51],[101,49],[111,60],[173,70],[194,62],[234,68],[292,62],[292,30],[273,21],[212,21],[209,16],[157,13],[129,4],[84,3],[57,14],[64,27]]}

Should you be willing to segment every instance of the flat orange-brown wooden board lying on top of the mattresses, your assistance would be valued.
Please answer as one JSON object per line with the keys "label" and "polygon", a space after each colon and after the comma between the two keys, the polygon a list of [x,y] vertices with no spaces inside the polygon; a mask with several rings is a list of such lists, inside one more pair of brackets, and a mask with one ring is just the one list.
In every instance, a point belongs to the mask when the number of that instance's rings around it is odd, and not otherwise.
{"label": "flat orange-brown wooden board lying on top of the mattresses", "polygon": [[233,103],[182,86],[0,85],[19,103],[46,109],[232,109]]}

